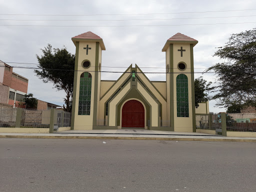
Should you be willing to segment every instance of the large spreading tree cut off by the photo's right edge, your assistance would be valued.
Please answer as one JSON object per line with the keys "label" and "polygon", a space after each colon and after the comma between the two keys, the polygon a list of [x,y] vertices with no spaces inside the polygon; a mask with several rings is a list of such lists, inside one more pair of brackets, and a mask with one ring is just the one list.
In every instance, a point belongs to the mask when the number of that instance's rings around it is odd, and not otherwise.
{"label": "large spreading tree cut off by the photo's right edge", "polygon": [[256,106],[256,28],[231,34],[228,42],[218,47],[213,56],[223,59],[207,71],[216,74],[212,86],[217,106]]}

